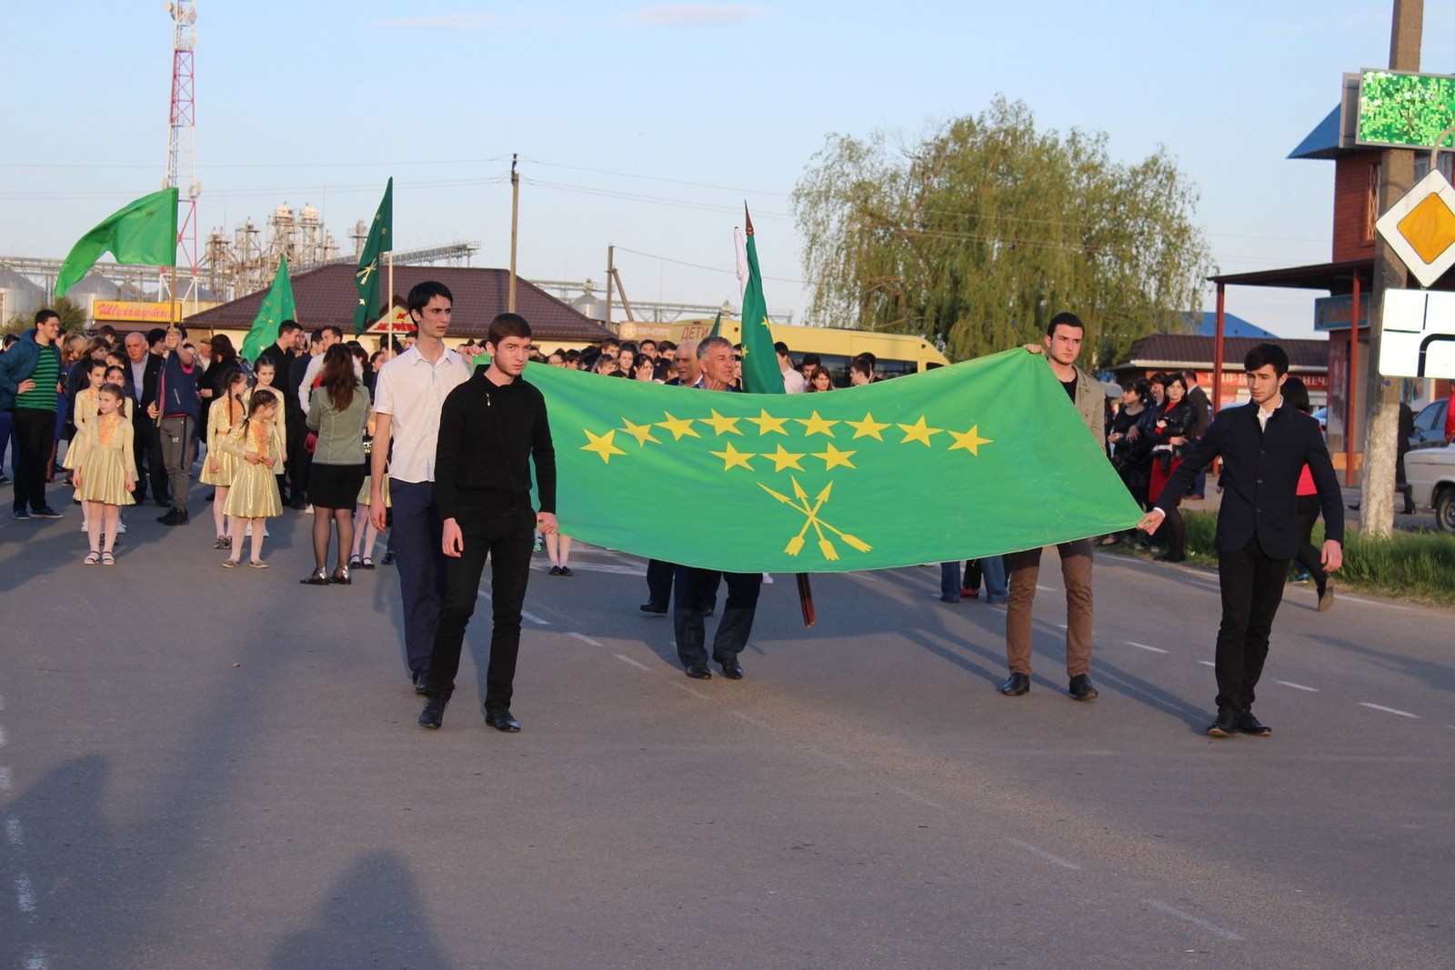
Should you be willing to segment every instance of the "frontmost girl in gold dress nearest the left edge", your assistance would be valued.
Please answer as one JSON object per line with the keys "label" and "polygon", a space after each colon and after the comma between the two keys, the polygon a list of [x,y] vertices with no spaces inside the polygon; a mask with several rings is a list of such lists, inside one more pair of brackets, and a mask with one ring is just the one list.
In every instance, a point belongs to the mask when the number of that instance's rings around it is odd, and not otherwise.
{"label": "frontmost girl in gold dress nearest the left edge", "polygon": [[[86,538],[90,553],[86,564],[115,566],[112,548],[121,506],[131,505],[137,486],[137,460],[131,449],[131,422],[121,414],[127,391],[118,384],[103,384],[96,398],[96,417],[81,429],[76,446],[76,494],[86,508]],[[68,457],[68,455],[67,455]],[[97,548],[105,532],[105,548]]]}

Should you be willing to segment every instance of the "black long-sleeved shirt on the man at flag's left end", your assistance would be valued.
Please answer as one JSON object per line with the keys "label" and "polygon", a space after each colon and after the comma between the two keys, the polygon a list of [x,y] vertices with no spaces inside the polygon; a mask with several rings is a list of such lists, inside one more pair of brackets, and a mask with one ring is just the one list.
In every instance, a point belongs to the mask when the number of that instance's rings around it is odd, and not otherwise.
{"label": "black long-sleeved shirt on the man at flag's left end", "polygon": [[540,510],[556,512],[556,448],[546,398],[517,378],[496,387],[482,364],[445,397],[435,446],[439,516],[458,519],[463,508],[530,506],[531,460]]}

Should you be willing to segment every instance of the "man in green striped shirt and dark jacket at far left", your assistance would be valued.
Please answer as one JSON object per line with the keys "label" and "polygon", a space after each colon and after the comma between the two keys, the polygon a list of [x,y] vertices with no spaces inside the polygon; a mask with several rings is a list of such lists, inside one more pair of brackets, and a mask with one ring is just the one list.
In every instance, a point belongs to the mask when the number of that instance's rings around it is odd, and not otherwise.
{"label": "man in green striped shirt and dark jacket at far left", "polygon": [[10,409],[15,425],[15,518],[58,519],[45,503],[45,464],[55,444],[57,394],[61,385],[61,316],[54,310],[35,314],[28,330],[0,356],[0,407]]}

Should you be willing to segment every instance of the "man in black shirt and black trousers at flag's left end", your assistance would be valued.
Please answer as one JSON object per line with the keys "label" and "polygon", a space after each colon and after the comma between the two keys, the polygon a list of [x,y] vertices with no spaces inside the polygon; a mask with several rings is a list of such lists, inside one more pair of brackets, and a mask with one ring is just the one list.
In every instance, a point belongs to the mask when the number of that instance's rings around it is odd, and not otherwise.
{"label": "man in black shirt and black trousers at flag's left end", "polygon": [[[556,449],[546,398],[521,380],[531,353],[524,317],[502,313],[485,340],[489,366],[445,397],[435,449],[435,493],[444,519],[445,599],[429,657],[423,727],[439,727],[460,670],[464,628],[474,614],[485,560],[490,558],[490,665],[485,675],[485,723],[518,731],[511,716],[521,606],[531,572],[534,531],[556,532]],[[531,461],[540,512],[531,508]]]}

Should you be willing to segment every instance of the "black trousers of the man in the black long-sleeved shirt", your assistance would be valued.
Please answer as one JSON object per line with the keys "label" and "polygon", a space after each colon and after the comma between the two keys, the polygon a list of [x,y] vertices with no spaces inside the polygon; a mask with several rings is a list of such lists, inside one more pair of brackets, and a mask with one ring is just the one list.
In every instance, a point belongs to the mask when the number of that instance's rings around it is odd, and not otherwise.
{"label": "black trousers of the man in the black long-sleeved shirt", "polygon": [[474,615],[485,560],[490,560],[490,663],[485,673],[485,710],[511,705],[515,684],[515,659],[521,650],[521,606],[531,576],[531,551],[535,545],[535,512],[528,503],[498,510],[461,509],[460,529],[464,551],[445,563],[445,599],[429,654],[425,692],[450,700],[460,672],[464,630]]}

